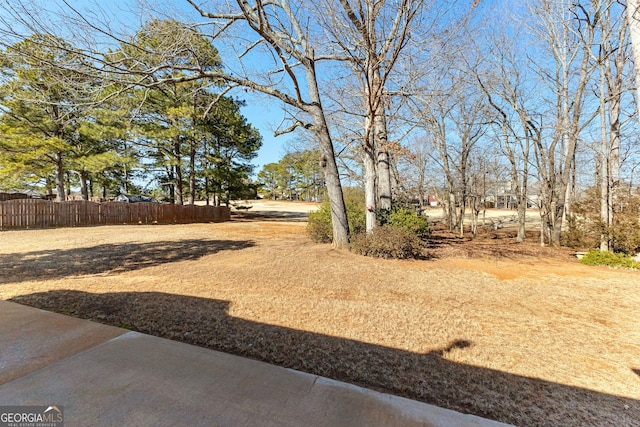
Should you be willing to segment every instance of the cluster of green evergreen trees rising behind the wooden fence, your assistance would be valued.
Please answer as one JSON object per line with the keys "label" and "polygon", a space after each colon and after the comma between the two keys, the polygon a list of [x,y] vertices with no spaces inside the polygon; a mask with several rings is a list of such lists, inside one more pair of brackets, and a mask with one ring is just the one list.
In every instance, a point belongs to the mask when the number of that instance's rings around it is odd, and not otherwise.
{"label": "cluster of green evergreen trees rising behind the wooden fence", "polygon": [[[179,43],[183,55],[153,52]],[[262,138],[240,113],[243,102],[203,79],[177,81],[172,67],[221,66],[206,38],[172,20],[154,20],[104,52],[127,69],[112,76],[67,41],[33,34],[1,52],[0,179],[7,188],[56,190],[71,185],[82,198],[139,193],[154,177],[153,194],[176,204],[205,198],[228,203],[249,186]],[[149,84],[151,82],[152,84]]]}

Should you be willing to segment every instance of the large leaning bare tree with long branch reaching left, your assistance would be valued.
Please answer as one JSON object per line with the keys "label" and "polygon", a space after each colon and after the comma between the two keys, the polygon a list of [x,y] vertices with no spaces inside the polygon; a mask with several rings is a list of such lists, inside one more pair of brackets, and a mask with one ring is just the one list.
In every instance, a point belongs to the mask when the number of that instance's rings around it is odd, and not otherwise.
{"label": "large leaning bare tree with long branch reaching left", "polygon": [[[318,84],[318,58],[309,37],[314,30],[311,16],[297,6],[292,7],[288,0],[237,0],[217,5],[218,10],[213,12],[204,10],[198,2],[188,2],[202,17],[211,20],[214,38],[229,37],[234,49],[239,52],[239,74],[201,71],[201,75],[223,79],[232,86],[259,91],[292,108],[296,115],[293,123],[278,134],[301,127],[311,130],[316,136],[331,203],[333,244],[336,247],[345,246],[349,242],[349,226],[333,140]],[[237,37],[233,37],[233,30],[240,27],[242,29]],[[263,68],[257,74],[251,74],[243,64],[247,63],[247,56],[259,53],[261,49],[268,53],[266,56],[259,55]],[[270,80],[272,78],[275,81]]]}

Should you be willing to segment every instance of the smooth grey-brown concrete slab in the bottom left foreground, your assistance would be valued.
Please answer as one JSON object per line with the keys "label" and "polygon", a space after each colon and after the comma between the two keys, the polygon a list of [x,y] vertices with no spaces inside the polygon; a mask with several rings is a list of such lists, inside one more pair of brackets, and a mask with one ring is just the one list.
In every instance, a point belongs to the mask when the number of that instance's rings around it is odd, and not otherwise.
{"label": "smooth grey-brown concrete slab in the bottom left foreground", "polygon": [[0,406],[64,426],[506,424],[213,350],[0,301]]}

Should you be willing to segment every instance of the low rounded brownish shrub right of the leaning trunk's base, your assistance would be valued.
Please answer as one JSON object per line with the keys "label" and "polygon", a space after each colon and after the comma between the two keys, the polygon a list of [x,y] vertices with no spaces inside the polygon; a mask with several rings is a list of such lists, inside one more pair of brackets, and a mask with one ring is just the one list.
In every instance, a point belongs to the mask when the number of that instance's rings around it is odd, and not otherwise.
{"label": "low rounded brownish shrub right of the leaning trunk's base", "polygon": [[421,258],[422,240],[413,232],[396,226],[376,227],[371,233],[359,233],[351,239],[354,253],[374,258]]}

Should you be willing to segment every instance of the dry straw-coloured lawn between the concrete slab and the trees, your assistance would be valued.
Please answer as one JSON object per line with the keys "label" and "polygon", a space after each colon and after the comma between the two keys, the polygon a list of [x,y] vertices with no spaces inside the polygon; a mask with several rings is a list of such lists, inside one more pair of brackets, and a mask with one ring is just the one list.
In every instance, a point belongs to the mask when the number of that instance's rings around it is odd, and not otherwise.
{"label": "dry straw-coloured lawn between the concrete slab and the trees", "polygon": [[431,258],[312,243],[313,204],[0,232],[0,298],[519,426],[640,426],[640,273],[487,227]]}

